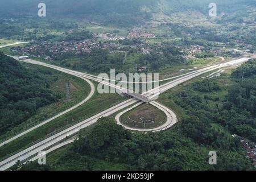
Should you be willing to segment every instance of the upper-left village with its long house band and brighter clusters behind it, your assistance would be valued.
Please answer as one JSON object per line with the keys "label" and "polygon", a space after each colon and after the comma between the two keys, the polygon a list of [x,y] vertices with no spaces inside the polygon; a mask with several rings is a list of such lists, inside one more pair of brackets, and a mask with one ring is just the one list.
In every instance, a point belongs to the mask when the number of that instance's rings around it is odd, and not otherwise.
{"label": "upper-left village with its long house band and brighter clusters behind it", "polygon": [[62,41],[55,42],[52,40],[31,40],[25,47],[13,47],[11,51],[18,55],[33,56],[51,60],[54,55],[63,55],[65,52],[73,53],[90,53],[93,49],[108,49],[110,53],[125,53],[127,49],[136,49],[142,54],[151,53],[152,49],[146,43],[132,42],[131,44],[123,44],[124,39],[139,39],[145,37],[153,37],[154,34],[143,32],[142,30],[132,30],[125,37],[118,37],[114,34],[93,34],[93,38],[81,41]]}

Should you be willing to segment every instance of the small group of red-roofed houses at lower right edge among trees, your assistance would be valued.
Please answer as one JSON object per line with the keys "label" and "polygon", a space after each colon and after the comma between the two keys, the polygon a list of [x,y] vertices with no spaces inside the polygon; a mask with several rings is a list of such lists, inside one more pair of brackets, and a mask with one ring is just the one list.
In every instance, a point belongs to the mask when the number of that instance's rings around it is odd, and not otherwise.
{"label": "small group of red-roofed houses at lower right edge among trees", "polygon": [[246,158],[250,159],[253,166],[256,168],[256,143],[255,142],[246,142],[238,135],[232,135],[232,137],[238,137],[240,142],[243,145],[243,148],[246,150]]}

